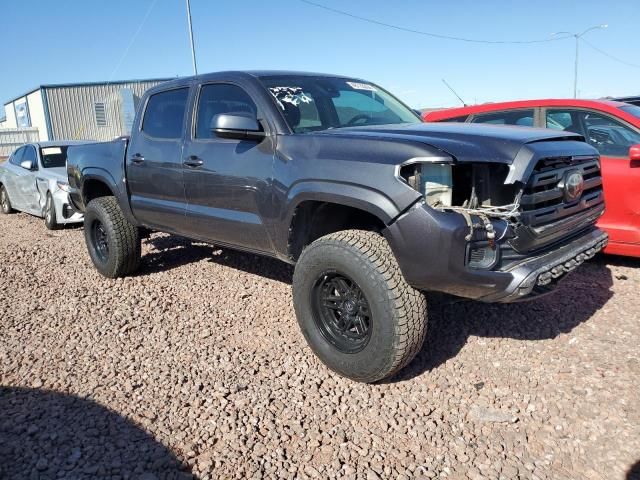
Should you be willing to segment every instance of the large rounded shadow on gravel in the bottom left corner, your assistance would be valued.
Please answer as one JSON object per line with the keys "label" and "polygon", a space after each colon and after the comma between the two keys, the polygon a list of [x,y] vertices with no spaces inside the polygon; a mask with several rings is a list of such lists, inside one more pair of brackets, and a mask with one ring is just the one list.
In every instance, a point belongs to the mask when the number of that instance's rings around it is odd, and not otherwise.
{"label": "large rounded shadow on gravel in the bottom left corner", "polygon": [[0,387],[0,478],[193,478],[117,413],[57,392]]}

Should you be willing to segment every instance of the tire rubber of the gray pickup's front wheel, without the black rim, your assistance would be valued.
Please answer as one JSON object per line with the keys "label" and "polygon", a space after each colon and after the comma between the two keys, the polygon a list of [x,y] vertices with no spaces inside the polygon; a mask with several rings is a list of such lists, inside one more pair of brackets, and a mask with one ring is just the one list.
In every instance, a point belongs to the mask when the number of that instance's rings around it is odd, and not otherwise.
{"label": "tire rubber of the gray pickup's front wheel, without the black rim", "polygon": [[[318,305],[314,286],[337,274],[357,284],[371,313],[369,340],[355,353],[345,353],[327,339],[314,307]],[[293,302],[302,333],[315,354],[333,371],[359,382],[392,376],[424,342],[426,298],[405,281],[389,244],[375,232],[332,233],[306,247],[293,275]]]}

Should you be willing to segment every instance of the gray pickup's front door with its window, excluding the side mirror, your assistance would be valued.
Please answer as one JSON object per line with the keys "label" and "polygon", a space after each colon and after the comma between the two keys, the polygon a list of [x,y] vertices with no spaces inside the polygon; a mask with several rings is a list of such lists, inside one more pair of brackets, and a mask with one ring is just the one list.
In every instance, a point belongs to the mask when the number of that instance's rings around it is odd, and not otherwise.
{"label": "gray pickup's front door with its window, excluding the side mirror", "polygon": [[211,83],[200,87],[194,108],[183,158],[190,233],[249,250],[273,251],[261,214],[270,204],[272,139],[220,138],[210,129],[218,114],[259,118],[256,102],[238,85]]}

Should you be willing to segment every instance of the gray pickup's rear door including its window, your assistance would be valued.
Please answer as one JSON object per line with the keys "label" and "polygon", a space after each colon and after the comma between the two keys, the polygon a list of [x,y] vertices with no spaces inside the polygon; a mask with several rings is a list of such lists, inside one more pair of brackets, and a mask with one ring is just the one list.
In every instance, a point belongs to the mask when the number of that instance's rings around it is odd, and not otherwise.
{"label": "gray pickup's rear door including its window", "polygon": [[127,148],[131,209],[145,226],[181,233],[186,200],[182,148],[189,87],[151,95]]}

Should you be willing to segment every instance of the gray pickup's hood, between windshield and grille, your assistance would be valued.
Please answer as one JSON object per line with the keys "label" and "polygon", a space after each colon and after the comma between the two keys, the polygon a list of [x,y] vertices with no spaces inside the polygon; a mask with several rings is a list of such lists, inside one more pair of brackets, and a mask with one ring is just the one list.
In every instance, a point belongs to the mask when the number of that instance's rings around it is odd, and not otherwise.
{"label": "gray pickup's hood, between windshield and grille", "polygon": [[458,162],[481,161],[509,165],[514,162],[522,147],[530,143],[584,142],[584,138],[575,133],[543,128],[465,123],[418,123],[349,127],[325,130],[320,133],[328,136],[426,144],[447,153]]}

